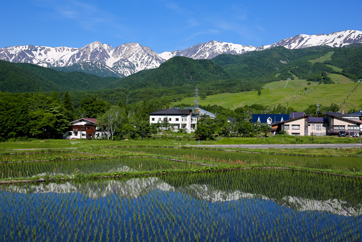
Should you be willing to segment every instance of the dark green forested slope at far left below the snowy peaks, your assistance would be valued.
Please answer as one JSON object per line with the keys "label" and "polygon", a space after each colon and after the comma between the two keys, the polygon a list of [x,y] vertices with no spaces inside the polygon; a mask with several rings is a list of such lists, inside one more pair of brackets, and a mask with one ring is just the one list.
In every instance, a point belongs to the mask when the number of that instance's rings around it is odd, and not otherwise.
{"label": "dark green forested slope at far left below the snowy peaks", "polygon": [[0,61],[1,91],[99,90],[117,80],[117,78],[101,78],[81,72],[59,72],[27,63]]}

